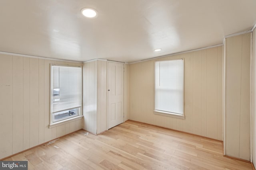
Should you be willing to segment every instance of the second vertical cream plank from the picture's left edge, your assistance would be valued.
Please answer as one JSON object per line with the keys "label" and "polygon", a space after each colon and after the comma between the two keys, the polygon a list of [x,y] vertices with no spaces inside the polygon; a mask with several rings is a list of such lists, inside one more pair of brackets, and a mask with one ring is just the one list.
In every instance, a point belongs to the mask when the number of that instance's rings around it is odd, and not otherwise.
{"label": "second vertical cream plank from the picture's left edge", "polygon": [[17,153],[23,150],[23,58],[17,56],[12,58],[12,146],[13,152]]}

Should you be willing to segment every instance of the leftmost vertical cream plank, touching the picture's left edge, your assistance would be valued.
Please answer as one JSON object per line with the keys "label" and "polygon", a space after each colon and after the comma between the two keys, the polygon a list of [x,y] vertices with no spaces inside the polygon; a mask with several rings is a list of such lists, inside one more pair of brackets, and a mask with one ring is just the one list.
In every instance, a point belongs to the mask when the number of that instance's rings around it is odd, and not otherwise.
{"label": "leftmost vertical cream plank, touching the picture's left edge", "polygon": [[12,56],[0,54],[0,157],[12,154]]}

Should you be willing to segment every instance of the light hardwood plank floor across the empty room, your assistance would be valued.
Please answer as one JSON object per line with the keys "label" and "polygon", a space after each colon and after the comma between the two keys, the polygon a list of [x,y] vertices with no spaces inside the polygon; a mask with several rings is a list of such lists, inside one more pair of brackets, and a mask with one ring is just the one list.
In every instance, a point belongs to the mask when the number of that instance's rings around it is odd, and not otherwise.
{"label": "light hardwood plank floor across the empty room", "polygon": [[252,170],[223,156],[222,142],[126,121],[101,135],[80,130],[6,160],[35,170]]}

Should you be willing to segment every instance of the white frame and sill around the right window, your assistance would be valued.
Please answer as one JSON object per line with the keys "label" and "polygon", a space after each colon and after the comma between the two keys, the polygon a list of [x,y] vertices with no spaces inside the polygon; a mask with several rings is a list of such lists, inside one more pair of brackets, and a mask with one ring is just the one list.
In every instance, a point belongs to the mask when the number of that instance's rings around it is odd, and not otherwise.
{"label": "white frame and sill around the right window", "polygon": [[[183,95],[182,109],[183,109],[183,113],[182,114],[169,112],[169,111],[162,111],[162,110],[157,110],[156,109],[156,62],[174,61],[174,60],[182,60],[183,61],[183,87],[182,87],[182,92],[183,92],[182,93],[182,95]],[[154,111],[153,111],[154,114],[185,119],[185,109],[184,109],[184,82],[185,81],[184,81],[184,78],[185,78],[185,60],[184,60],[184,58],[154,61]]]}

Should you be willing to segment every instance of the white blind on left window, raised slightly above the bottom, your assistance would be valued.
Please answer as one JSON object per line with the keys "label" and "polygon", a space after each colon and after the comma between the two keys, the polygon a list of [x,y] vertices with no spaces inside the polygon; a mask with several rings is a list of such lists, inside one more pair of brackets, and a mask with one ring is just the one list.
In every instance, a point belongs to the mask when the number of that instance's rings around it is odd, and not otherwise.
{"label": "white blind on left window, raised slightly above the bottom", "polygon": [[82,68],[52,66],[52,113],[82,106]]}

